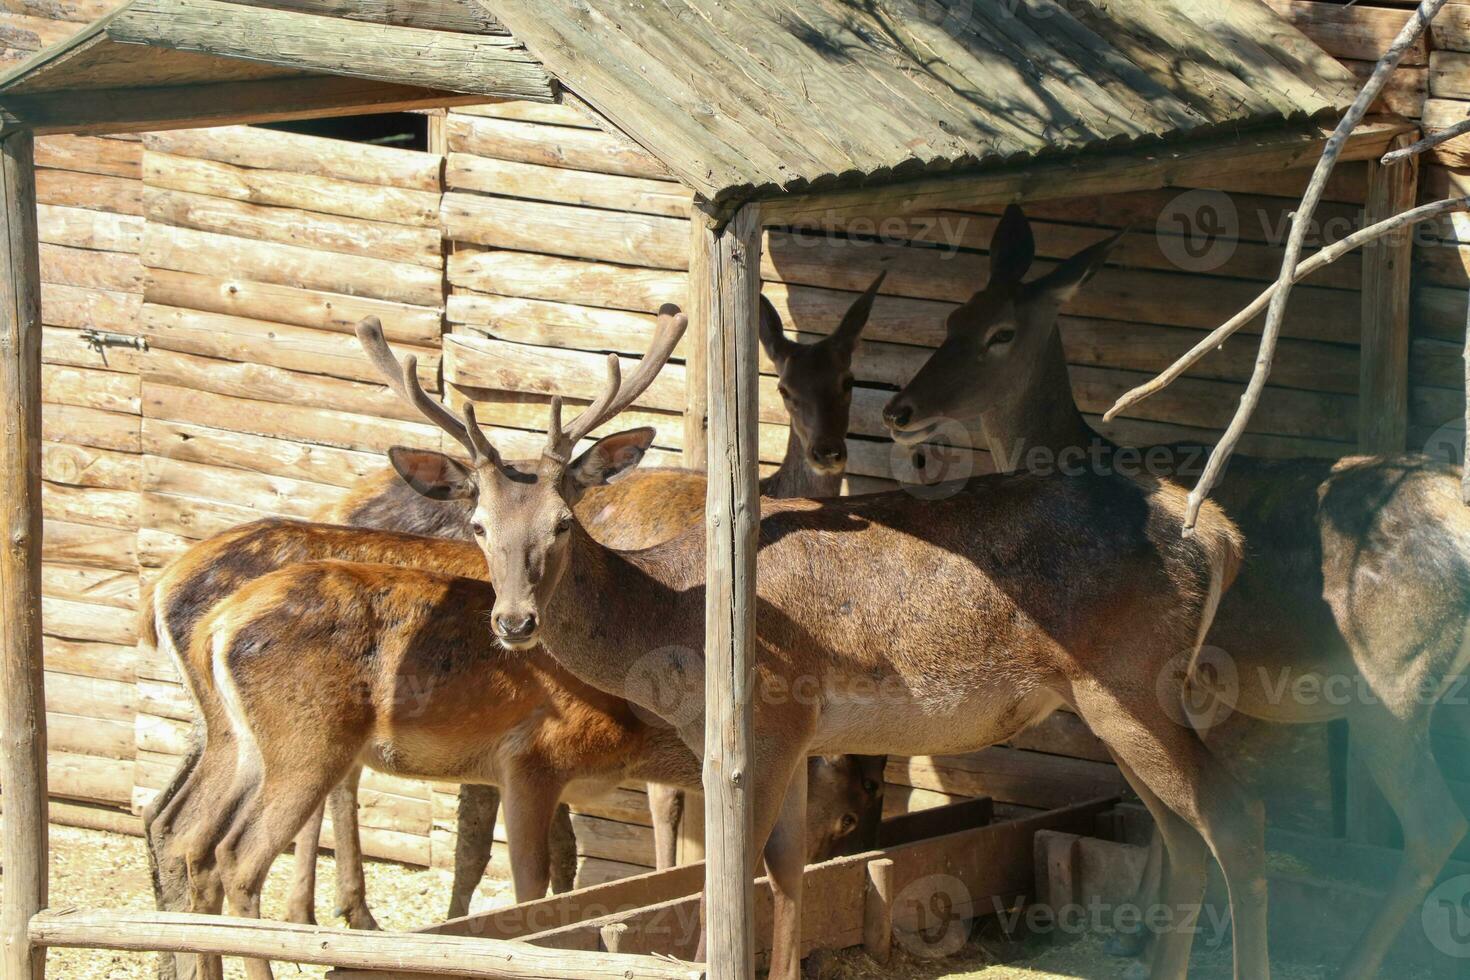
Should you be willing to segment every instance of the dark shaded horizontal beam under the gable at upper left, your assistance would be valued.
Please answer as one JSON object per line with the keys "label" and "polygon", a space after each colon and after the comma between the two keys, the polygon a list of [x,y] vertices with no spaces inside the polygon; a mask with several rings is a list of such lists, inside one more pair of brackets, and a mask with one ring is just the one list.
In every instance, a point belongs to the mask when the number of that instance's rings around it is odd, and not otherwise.
{"label": "dark shaded horizontal beam under the gable at upper left", "polygon": [[404,112],[476,101],[481,101],[479,96],[319,75],[43,96],[0,93],[0,116],[7,129],[29,128],[37,134],[116,134]]}

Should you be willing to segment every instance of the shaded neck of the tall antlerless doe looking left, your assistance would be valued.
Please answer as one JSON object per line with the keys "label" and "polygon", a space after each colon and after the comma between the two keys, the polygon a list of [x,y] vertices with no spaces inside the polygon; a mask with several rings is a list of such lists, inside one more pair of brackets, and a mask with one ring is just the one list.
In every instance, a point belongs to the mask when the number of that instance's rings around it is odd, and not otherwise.
{"label": "shaded neck of the tall antlerless doe looking left", "polygon": [[[1053,464],[1057,454],[1091,447],[1100,439],[1072,395],[1060,331],[1051,331],[1030,381],[1008,400],[982,413],[980,422],[995,466],[1005,472],[1036,466],[1038,457],[1047,457],[1045,464]],[[1030,464],[1028,457],[1033,460]]]}

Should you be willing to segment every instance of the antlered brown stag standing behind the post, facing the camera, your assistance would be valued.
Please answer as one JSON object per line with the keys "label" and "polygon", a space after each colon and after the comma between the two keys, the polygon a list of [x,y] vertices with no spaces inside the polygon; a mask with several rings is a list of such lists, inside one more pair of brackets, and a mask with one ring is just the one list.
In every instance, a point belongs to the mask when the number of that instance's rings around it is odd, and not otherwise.
{"label": "antlered brown stag standing behind the post, facing the camera", "polygon": [[[1066,292],[1080,282],[1072,276],[1064,269],[1048,287]],[[664,307],[629,385],[612,359],[606,389],[570,425],[554,398],[531,464],[503,460],[472,407],[463,422],[442,407],[429,413],[470,463],[444,457],[440,479],[415,485],[475,501],[495,586],[487,626],[501,646],[544,644],[588,683],[663,710],[698,751],[703,529],[614,551],[582,527],[566,489],[572,447],[632,403],[681,331]],[[432,403],[412,363],[400,378],[415,404]],[[945,500],[891,492],[764,505],[748,792],[775,893],[772,977],[800,973],[806,795],[792,774],[806,757],[973,751],[1063,704],[1158,810],[1169,905],[1195,909],[1164,937],[1154,976],[1185,976],[1210,852],[1229,884],[1236,976],[1270,976],[1261,807],[1170,717],[1242,548],[1213,505],[1183,538],[1185,507],[1173,483],[1111,475],[979,478]],[[681,696],[650,696],[650,674]]]}

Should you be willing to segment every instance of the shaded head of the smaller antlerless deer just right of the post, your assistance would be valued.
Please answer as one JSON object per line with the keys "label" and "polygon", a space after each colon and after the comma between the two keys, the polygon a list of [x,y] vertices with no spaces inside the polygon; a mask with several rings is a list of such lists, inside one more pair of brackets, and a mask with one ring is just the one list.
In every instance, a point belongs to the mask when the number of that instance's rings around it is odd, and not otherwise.
{"label": "shaded head of the smaller antlerless deer just right of the post", "polygon": [[823,476],[841,476],[847,469],[853,351],[886,275],[879,273],[848,307],[836,331],[816,344],[788,339],[776,307],[760,297],[760,345],[776,364],[778,391],[791,417],[791,430],[806,450],[806,463]]}

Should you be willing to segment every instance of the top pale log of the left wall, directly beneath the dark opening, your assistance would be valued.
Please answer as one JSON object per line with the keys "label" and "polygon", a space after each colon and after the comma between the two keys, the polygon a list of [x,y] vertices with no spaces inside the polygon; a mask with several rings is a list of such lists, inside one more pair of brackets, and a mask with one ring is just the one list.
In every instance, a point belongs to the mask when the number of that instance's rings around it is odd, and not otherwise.
{"label": "top pale log of the left wall, directly beneath the dark opening", "polygon": [[345,143],[259,126],[150,132],[143,137],[143,145],[157,153],[256,170],[306,173],[431,194],[440,191],[441,162],[417,150]]}

